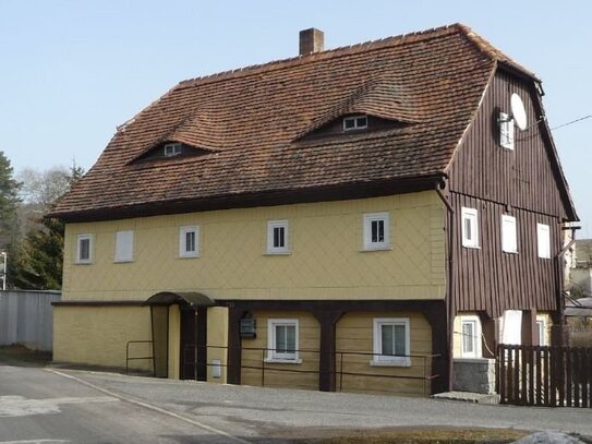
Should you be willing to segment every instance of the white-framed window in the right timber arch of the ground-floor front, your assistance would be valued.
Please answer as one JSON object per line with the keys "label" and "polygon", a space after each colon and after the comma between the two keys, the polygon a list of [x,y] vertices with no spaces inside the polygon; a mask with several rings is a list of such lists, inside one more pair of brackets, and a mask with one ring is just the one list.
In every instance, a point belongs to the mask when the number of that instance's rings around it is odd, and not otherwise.
{"label": "white-framed window in the right timber arch of the ground-floor front", "polygon": [[411,365],[408,317],[374,319],[373,365]]}

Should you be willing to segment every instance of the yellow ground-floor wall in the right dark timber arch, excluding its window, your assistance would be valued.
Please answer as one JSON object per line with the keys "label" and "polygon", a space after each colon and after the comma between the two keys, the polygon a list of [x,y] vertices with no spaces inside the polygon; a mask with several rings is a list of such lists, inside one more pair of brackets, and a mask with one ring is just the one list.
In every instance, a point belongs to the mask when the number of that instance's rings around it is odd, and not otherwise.
{"label": "yellow ground-floor wall in the right dark timber arch, excluding its window", "polygon": [[[372,353],[375,317],[409,319],[410,367],[374,367]],[[352,312],[337,323],[337,388],[341,392],[392,393],[407,396],[430,395],[432,328],[416,312]],[[342,352],[342,353],[341,353]],[[397,377],[401,376],[401,377]],[[411,379],[410,379],[411,377]]]}

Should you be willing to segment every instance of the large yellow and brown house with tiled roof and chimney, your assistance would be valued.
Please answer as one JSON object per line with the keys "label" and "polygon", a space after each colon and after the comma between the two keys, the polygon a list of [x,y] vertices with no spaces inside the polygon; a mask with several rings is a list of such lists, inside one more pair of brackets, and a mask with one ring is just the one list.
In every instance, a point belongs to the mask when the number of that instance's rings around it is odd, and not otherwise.
{"label": "large yellow and brown house with tiled roof and chimney", "polygon": [[307,29],[299,57],[181,82],[53,211],[55,359],[422,395],[500,340],[559,344],[577,215],[542,95],[461,24]]}

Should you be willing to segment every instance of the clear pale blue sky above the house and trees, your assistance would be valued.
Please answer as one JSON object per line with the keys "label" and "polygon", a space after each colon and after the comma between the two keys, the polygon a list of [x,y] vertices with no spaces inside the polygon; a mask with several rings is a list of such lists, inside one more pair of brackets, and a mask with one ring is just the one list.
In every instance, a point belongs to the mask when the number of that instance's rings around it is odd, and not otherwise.
{"label": "clear pale blue sky above the house and trees", "polygon": [[[116,127],[185,79],[464,23],[543,80],[552,128],[592,115],[592,2],[0,0],[0,151],[16,173],[88,169]],[[592,237],[592,118],[554,130]]]}

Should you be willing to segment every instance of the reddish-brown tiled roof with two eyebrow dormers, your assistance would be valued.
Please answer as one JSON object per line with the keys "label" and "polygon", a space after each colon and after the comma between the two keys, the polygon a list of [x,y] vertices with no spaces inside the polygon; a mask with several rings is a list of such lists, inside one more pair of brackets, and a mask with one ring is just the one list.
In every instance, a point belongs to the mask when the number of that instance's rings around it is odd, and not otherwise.
{"label": "reddish-brown tiled roof with two eyebrow dormers", "polygon": [[[451,25],[181,82],[118,129],[55,214],[442,173],[497,62],[532,75]],[[301,139],[352,112],[406,124]],[[210,154],[132,161],[164,141]]]}

